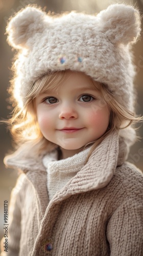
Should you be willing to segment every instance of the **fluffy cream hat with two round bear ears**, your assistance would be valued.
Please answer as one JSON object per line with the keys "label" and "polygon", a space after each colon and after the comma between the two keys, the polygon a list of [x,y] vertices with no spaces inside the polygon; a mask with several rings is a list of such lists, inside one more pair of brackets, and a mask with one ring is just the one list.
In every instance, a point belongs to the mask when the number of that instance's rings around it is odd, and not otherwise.
{"label": "fluffy cream hat with two round bear ears", "polygon": [[133,110],[135,75],[130,46],[140,33],[138,10],[114,4],[98,15],[70,12],[50,16],[26,7],[11,18],[9,44],[19,50],[14,90],[25,103],[33,82],[43,73],[82,71],[108,84],[116,99]]}

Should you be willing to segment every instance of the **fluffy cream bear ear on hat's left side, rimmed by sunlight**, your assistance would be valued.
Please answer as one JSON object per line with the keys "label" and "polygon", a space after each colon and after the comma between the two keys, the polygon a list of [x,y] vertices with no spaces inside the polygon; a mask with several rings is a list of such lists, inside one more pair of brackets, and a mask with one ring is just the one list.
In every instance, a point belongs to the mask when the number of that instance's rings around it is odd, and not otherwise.
{"label": "fluffy cream bear ear on hat's left side, rimmed by sunlight", "polygon": [[15,49],[27,48],[27,41],[35,33],[44,29],[46,14],[36,7],[26,7],[19,11],[6,28],[8,43]]}

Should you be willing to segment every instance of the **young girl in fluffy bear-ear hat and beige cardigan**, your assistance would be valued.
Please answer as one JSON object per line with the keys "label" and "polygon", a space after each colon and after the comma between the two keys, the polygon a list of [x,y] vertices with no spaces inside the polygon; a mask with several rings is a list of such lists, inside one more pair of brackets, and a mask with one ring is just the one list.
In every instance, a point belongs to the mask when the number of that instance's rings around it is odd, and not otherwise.
{"label": "young girl in fluffy bear-ear hat and beige cardigan", "polygon": [[21,174],[9,209],[10,256],[141,256],[141,172],[135,141],[131,45],[138,10],[51,16],[37,7],[7,27],[18,50],[10,93]]}

